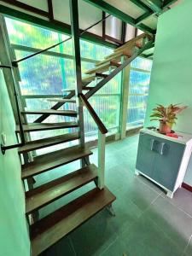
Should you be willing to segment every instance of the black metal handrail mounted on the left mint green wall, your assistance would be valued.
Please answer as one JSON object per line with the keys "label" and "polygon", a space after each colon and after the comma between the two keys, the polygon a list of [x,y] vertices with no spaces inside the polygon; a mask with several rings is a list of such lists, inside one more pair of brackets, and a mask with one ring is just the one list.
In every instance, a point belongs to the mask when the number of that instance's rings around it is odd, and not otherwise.
{"label": "black metal handrail mounted on the left mint green wall", "polygon": [[16,91],[15,79],[14,79],[14,73],[13,73],[12,67],[9,67],[7,65],[0,65],[0,67],[10,69],[11,77],[13,79],[13,84],[14,84],[14,95],[15,95],[16,111],[17,111],[17,114],[18,114],[18,122],[19,122],[19,126],[20,126],[20,143],[12,144],[12,145],[9,145],[9,146],[5,146],[1,143],[2,153],[5,154],[6,150],[9,150],[9,149],[12,149],[12,148],[19,148],[19,147],[24,146],[25,143],[26,143],[26,140],[25,140],[23,125],[22,125],[22,121],[21,121],[21,117],[20,117],[20,107],[19,107],[19,102],[18,102],[18,99],[17,99],[18,94],[17,94],[17,91]]}

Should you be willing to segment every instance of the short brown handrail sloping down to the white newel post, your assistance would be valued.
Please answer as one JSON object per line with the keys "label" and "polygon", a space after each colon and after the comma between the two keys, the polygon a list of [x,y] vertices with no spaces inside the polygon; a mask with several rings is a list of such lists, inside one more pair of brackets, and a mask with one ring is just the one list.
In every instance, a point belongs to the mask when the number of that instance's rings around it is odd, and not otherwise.
{"label": "short brown handrail sloping down to the white newel post", "polygon": [[84,102],[84,105],[86,106],[86,108],[90,112],[90,115],[92,116],[92,118],[95,120],[99,131],[101,131],[102,134],[108,133],[108,129],[105,127],[105,125],[103,125],[102,120],[98,117],[98,115],[96,114],[96,111],[92,108],[92,106],[90,105],[90,102],[87,101],[84,94],[79,93],[79,97]]}

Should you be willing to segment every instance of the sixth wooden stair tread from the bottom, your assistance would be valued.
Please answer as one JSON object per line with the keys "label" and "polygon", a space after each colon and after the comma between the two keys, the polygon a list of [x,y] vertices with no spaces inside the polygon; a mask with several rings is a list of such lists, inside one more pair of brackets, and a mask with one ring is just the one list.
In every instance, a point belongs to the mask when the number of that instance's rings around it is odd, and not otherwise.
{"label": "sixth wooden stair tread from the bottom", "polygon": [[55,109],[37,109],[37,110],[25,110],[20,113],[24,114],[55,114],[55,115],[66,115],[66,116],[77,116],[77,112],[73,110],[55,110]]}

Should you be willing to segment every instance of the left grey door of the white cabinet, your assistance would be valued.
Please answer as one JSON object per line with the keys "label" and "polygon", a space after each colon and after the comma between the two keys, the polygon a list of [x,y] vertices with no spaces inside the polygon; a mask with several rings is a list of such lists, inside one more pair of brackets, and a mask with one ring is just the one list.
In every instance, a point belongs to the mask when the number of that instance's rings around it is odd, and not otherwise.
{"label": "left grey door of the white cabinet", "polygon": [[151,135],[140,132],[136,168],[138,171],[148,175],[148,177],[152,177],[154,168],[155,153],[151,150],[152,143],[153,137]]}

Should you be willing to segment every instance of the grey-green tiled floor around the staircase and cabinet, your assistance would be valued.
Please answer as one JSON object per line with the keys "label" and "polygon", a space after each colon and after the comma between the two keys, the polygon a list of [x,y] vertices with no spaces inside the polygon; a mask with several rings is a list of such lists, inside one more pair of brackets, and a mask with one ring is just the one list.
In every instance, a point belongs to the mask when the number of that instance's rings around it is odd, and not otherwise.
{"label": "grey-green tiled floor around the staircase and cabinet", "polygon": [[[107,210],[99,212],[44,256],[192,256],[192,193],[179,189],[170,200],[156,185],[136,177],[137,140],[134,136],[107,146],[106,183],[117,196],[113,203],[116,217]],[[93,151],[91,161],[96,162]],[[73,164],[44,173],[38,184],[76,168]],[[93,187],[90,183],[44,207],[41,216]]]}

